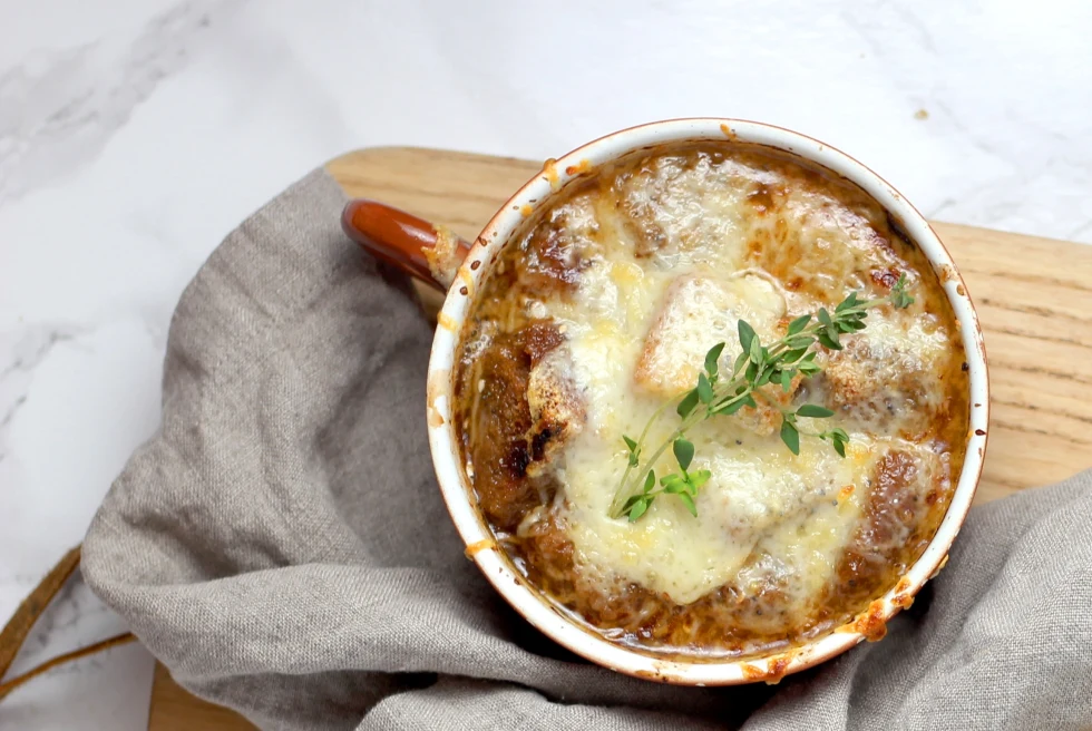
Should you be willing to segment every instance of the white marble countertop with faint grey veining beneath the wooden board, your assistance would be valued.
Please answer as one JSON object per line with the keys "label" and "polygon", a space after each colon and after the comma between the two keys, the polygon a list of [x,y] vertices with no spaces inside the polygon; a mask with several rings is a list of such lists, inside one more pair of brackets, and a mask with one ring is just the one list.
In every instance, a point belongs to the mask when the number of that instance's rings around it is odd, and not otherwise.
{"label": "white marble countertop with faint grey veining beneath the wooden board", "polygon": [[[0,618],[155,429],[183,286],[328,158],[542,159],[735,116],[850,152],[929,216],[1092,243],[1090,37],[1084,0],[0,0]],[[77,582],[13,670],[123,628]],[[136,645],[88,659],[0,729],[144,728],[150,678]]]}

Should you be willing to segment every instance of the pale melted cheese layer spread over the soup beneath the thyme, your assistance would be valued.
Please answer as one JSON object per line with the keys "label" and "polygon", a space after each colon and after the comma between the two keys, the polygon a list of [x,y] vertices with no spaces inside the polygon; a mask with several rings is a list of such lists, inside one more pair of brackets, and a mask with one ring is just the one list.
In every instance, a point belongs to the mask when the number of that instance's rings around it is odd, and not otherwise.
{"label": "pale melted cheese layer spread over the soup beneath the thyme", "polygon": [[[894,419],[885,411],[877,428],[876,415],[849,394],[842,410],[848,418],[839,422],[851,436],[848,458],[808,438],[794,456],[759,415],[718,417],[690,433],[698,446],[694,469],[712,472],[698,495],[696,518],[670,496],[635,524],[611,518],[626,464],[621,435],[640,433],[665,397],[691,388],[716,342],[728,343],[721,367],[730,369],[740,352],[741,318],[772,341],[783,334],[787,315],[830,306],[851,289],[865,285],[883,296],[862,274],[895,263],[888,248],[876,245],[872,212],[835,207],[816,191],[784,185],[778,174],[731,158],[688,164],[684,157],[653,157],[620,181],[621,205],[598,192],[565,205],[565,231],[584,265],[575,295],[529,305],[560,323],[586,405],[586,425],[556,472],[560,522],[576,564],[606,594],[636,583],[689,604],[730,583],[743,592],[776,584],[793,605],[787,608],[803,611],[830,582],[860,522],[879,457],[897,442],[932,464],[927,446],[899,436],[898,415],[914,416],[913,407],[904,408],[899,376],[935,372],[949,334],[935,319],[885,308],[870,313],[851,351],[856,360],[831,359],[839,383],[856,388],[859,401],[900,401]],[[774,196],[781,215],[762,215],[757,208],[773,207],[766,199]],[[755,245],[776,240],[797,247]],[[799,286],[801,279],[811,286]],[[935,390],[915,398],[943,396]],[[661,444],[676,421],[673,415],[661,419],[646,444]],[[822,430],[811,421],[801,419],[801,429]],[[655,467],[659,475],[675,470],[670,450]],[[920,470],[923,490],[930,475]]]}

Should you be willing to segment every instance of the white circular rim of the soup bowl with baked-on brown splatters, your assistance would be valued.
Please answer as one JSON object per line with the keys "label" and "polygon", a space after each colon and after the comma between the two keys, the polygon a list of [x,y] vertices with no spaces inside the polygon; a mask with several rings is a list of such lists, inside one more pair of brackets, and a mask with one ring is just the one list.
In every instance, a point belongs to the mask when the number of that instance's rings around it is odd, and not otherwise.
{"label": "white circular rim of the soup bowl with baked-on brown splatters", "polygon": [[[534,588],[494,540],[476,507],[459,455],[451,419],[455,353],[462,325],[482,277],[527,215],[552,203],[565,185],[604,163],[666,144],[730,139],[764,145],[820,165],[860,186],[899,224],[925,254],[959,324],[969,370],[969,423],[966,457],[948,509],[925,553],[884,596],[854,622],[788,651],[743,660],[702,661],[657,657],[614,644],[582,626]],[[529,206],[529,208],[527,207]],[[533,626],[574,653],[616,672],[682,685],[735,685],[777,682],[846,652],[866,639],[878,640],[886,623],[908,607],[922,586],[946,563],[982,476],[988,438],[989,379],[982,328],[971,295],[950,254],[928,221],[887,181],[840,149],[797,131],[744,119],[686,117],[628,127],[586,143],[543,169],[497,211],[459,267],[438,315],[428,367],[429,446],[445,504],[478,565],[497,592]]]}

